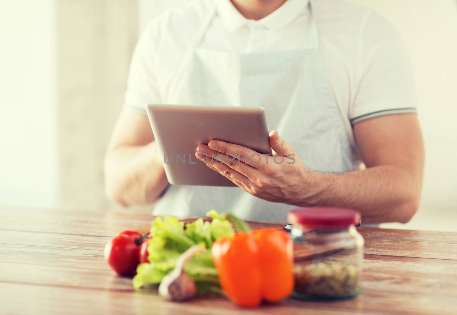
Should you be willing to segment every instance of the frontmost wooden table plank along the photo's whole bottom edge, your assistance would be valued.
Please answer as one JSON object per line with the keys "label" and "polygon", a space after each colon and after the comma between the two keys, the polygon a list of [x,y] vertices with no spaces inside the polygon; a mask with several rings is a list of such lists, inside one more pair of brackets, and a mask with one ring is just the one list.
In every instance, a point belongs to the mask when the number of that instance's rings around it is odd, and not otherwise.
{"label": "frontmost wooden table plank along the photo's whole bottom edge", "polygon": [[[286,299],[240,309],[222,298],[166,302],[148,292],[122,292],[0,283],[1,314],[452,314],[453,298],[366,291],[330,302]],[[27,297],[27,298],[26,298]],[[90,310],[90,311],[89,311]]]}

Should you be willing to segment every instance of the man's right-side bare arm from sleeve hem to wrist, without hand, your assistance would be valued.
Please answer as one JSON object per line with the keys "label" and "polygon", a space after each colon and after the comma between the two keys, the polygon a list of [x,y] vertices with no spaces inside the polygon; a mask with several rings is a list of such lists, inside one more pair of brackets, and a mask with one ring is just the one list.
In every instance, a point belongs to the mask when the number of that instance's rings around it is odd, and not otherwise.
{"label": "man's right-side bare arm from sleeve hem to wrist, without hand", "polygon": [[319,174],[305,204],[359,209],[363,222],[408,222],[417,211],[424,171],[424,143],[416,114],[389,115],[354,125],[367,169]]}

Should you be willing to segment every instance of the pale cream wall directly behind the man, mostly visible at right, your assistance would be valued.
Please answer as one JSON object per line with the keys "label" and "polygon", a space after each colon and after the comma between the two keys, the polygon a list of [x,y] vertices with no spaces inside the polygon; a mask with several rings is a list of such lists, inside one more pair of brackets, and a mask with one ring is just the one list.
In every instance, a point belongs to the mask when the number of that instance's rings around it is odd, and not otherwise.
{"label": "pale cream wall directly behind the man, mostly visible at right", "polygon": [[[324,0],[316,0],[324,1]],[[426,161],[421,208],[407,225],[457,230],[457,1],[354,0],[399,30],[417,87]],[[187,0],[139,0],[139,29],[162,11]]]}

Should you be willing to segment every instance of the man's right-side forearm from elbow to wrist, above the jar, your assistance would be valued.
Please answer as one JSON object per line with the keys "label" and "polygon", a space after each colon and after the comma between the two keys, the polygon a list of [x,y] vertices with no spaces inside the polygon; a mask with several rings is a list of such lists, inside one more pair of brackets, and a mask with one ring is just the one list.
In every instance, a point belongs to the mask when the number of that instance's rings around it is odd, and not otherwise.
{"label": "man's right-side forearm from elbow to wrist, above the jar", "polygon": [[399,166],[338,174],[312,172],[311,177],[295,205],[357,209],[364,223],[407,222],[419,205],[420,180]]}

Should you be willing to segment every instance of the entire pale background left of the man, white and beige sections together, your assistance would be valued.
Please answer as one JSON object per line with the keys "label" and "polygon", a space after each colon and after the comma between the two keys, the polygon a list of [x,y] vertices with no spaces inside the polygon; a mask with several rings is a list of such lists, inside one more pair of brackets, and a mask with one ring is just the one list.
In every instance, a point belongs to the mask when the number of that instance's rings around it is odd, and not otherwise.
{"label": "entire pale background left of the man, white and beige sections together", "polygon": [[0,205],[117,209],[103,158],[137,39],[136,0],[0,0]]}

